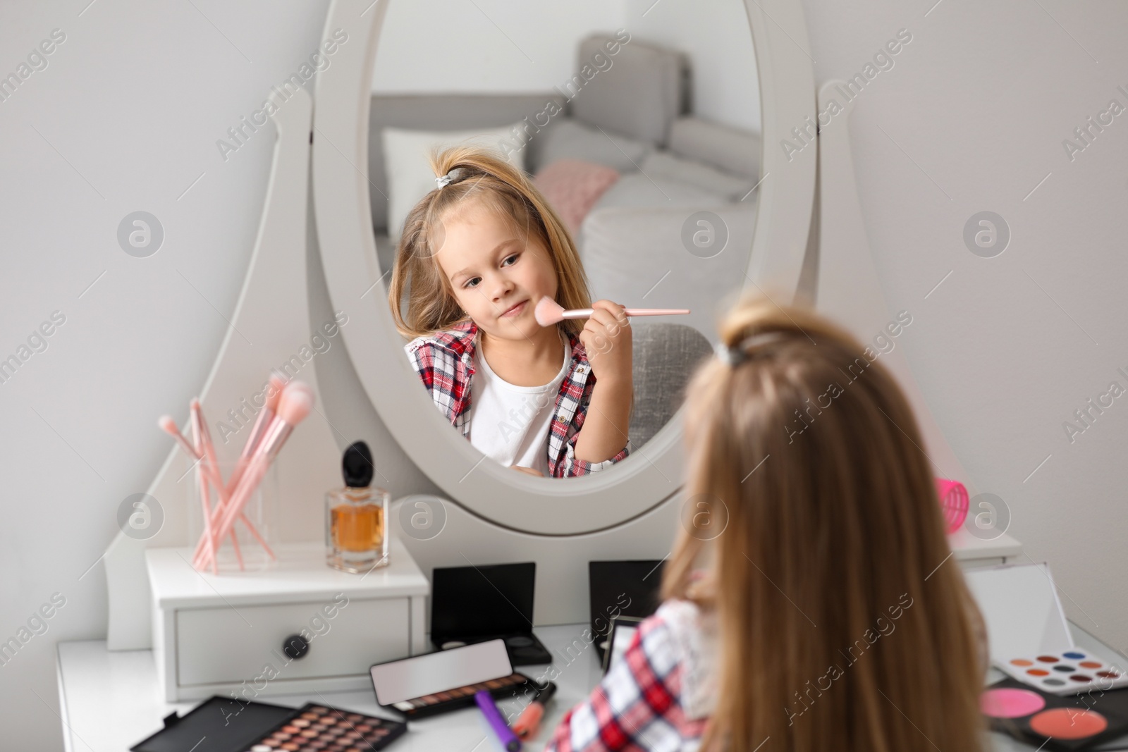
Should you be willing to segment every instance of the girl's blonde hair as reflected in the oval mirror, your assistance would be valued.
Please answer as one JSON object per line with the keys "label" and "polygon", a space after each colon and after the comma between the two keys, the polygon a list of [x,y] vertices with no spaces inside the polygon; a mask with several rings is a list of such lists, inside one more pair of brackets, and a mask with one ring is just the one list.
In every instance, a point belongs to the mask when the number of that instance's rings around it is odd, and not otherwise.
{"label": "girl's blonde hair as reflected in the oval mirror", "polygon": [[[391,271],[388,301],[399,334],[430,335],[467,318],[455,300],[450,281],[437,258],[444,225],[468,209],[485,205],[510,223],[526,241],[547,251],[556,272],[556,302],[564,308],[588,308],[588,278],[566,225],[522,170],[490,149],[457,145],[429,154],[435,177],[451,174],[451,182],[428,193],[407,214]],[[453,170],[453,172],[451,172]],[[406,311],[402,310],[405,289]],[[579,334],[581,319],[561,326]]]}

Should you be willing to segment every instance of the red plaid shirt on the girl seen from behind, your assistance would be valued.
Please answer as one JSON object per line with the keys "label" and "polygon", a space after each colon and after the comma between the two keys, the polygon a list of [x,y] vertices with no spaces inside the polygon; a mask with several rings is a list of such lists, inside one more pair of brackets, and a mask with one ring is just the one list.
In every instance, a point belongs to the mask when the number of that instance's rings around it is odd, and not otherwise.
{"label": "red plaid shirt on the girl seen from behind", "polygon": [[696,609],[667,601],[643,620],[587,700],[565,714],[545,752],[696,750],[714,700],[710,656],[690,637]]}

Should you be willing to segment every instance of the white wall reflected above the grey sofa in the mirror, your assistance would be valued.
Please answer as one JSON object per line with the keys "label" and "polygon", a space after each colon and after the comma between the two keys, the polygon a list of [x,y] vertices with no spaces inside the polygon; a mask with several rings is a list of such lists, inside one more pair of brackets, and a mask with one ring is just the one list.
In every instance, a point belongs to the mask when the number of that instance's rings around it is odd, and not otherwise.
{"label": "white wall reflected above the grey sofa in the mirror", "polygon": [[[429,24],[432,19],[438,23]],[[545,91],[575,74],[580,39],[593,30],[618,28],[626,28],[634,39],[689,55],[693,109],[698,115],[759,132],[756,56],[748,16],[734,0],[391,3],[376,54],[372,90]]]}

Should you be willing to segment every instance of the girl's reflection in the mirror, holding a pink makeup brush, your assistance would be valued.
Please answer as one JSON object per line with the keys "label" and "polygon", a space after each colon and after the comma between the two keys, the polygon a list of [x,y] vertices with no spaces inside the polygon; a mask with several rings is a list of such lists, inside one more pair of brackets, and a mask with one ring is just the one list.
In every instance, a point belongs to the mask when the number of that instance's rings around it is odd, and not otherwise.
{"label": "girl's reflection in the mirror, holding a pink makeup brush", "polygon": [[[525,172],[477,147],[430,160],[435,188],[404,222],[388,298],[435,406],[483,454],[530,475],[620,461],[634,396],[624,308],[590,302],[575,244]],[[541,327],[541,298],[594,312]]]}

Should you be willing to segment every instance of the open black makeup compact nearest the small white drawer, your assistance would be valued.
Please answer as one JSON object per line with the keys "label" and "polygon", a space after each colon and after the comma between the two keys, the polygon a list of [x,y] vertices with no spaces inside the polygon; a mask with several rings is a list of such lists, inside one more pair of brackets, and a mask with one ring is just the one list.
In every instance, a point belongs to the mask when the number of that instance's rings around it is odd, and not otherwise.
{"label": "open black makeup compact nearest the small white drawer", "polygon": [[435,567],[431,642],[444,651],[501,639],[514,666],[552,663],[552,654],[532,634],[536,580],[534,561]]}

